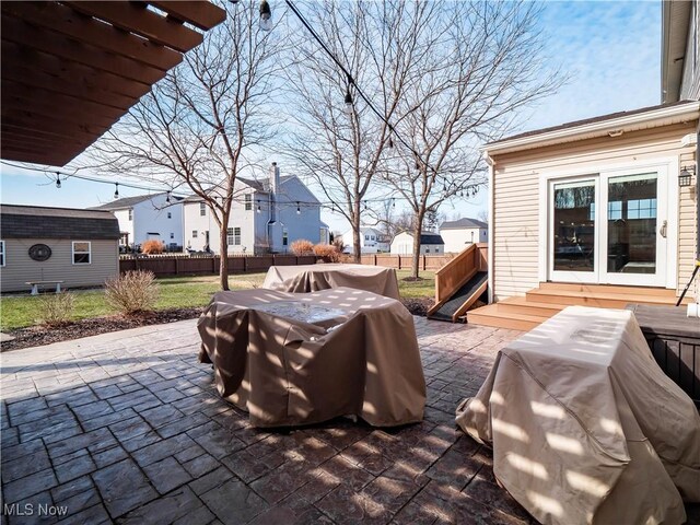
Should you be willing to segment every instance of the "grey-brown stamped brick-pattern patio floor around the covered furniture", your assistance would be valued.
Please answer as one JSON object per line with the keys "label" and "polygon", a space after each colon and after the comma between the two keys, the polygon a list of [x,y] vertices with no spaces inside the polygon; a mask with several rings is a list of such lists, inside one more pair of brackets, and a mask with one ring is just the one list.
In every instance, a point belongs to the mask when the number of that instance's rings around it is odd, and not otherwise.
{"label": "grey-brown stamped brick-pattern patio floor around the covered furniture", "polygon": [[530,523],[454,424],[520,332],[416,323],[425,420],[393,430],[250,428],[194,320],[3,353],[2,522]]}

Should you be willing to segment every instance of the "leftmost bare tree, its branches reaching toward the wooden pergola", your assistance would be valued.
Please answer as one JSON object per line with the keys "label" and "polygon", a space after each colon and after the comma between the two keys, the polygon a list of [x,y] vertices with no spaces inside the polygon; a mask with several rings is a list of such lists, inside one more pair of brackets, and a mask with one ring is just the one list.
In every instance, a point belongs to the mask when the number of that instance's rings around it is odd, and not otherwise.
{"label": "leftmost bare tree, its branches reaching toward the wooden pergola", "polygon": [[[258,2],[226,2],[226,21],[185,55],[95,147],[103,170],[187,187],[220,233],[229,290],[226,229],[237,175],[272,137],[269,112],[280,45],[258,26]],[[93,164],[94,166],[94,164]]]}

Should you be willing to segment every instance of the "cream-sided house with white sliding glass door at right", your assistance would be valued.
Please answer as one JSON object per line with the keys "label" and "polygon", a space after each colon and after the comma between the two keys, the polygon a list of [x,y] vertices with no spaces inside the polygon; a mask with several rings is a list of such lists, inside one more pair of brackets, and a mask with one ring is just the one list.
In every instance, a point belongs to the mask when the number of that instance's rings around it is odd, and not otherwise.
{"label": "cream-sided house with white sliding glass door at right", "polygon": [[688,282],[698,235],[700,103],[682,100],[700,93],[697,5],[663,4],[664,104],[485,147],[491,300],[524,295],[542,281],[677,294]]}

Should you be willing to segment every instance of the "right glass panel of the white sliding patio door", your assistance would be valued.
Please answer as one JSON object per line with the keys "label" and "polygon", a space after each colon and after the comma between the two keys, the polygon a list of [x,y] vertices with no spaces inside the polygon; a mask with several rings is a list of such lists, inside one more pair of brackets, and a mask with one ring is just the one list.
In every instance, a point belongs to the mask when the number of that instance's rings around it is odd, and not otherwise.
{"label": "right glass panel of the white sliding patio door", "polygon": [[608,178],[607,272],[656,273],[657,174]]}

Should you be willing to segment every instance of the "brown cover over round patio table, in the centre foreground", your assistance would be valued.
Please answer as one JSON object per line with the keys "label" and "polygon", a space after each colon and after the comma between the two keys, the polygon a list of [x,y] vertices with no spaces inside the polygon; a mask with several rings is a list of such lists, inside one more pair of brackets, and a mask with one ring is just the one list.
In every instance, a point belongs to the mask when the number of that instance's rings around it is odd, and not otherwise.
{"label": "brown cover over round patio table, in the centre foreground", "polygon": [[423,419],[413,317],[398,301],[350,288],[219,292],[198,328],[219,393],[255,427],[350,415],[377,427]]}

